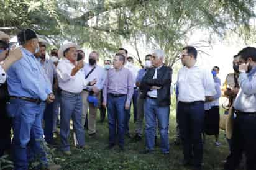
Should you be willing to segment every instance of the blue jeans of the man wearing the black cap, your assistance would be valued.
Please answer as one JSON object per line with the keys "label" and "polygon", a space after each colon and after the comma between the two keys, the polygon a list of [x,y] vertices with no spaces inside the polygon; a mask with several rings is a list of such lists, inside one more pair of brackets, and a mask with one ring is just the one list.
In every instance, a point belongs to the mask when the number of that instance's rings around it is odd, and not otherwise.
{"label": "blue jeans of the man wearing the black cap", "polygon": [[40,163],[47,166],[47,153],[43,148],[42,115],[40,105],[20,99],[11,99],[9,112],[14,113],[12,141],[14,169],[28,169],[27,145],[32,155],[39,157]]}

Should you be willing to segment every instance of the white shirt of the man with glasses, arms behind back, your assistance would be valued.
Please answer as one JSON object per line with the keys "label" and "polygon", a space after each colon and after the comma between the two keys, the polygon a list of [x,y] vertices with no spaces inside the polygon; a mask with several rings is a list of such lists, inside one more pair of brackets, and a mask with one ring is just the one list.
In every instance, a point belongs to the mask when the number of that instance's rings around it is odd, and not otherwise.
{"label": "white shirt of the man with glasses, arms behind back", "polygon": [[197,65],[187,68],[183,66],[178,73],[178,101],[205,101],[205,96],[214,96],[213,75],[211,71]]}

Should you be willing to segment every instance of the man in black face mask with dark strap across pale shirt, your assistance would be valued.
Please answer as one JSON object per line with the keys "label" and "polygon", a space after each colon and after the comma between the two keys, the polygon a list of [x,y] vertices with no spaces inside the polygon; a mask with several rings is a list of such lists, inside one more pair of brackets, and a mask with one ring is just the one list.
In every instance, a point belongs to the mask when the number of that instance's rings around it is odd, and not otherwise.
{"label": "man in black face mask with dark strap across pale shirt", "polygon": [[89,102],[88,96],[96,97],[96,101],[100,102],[100,93],[103,89],[104,82],[106,79],[106,71],[99,65],[97,62],[99,61],[99,54],[96,51],[92,51],[89,54],[89,64],[85,63],[84,71],[85,77],[88,81],[93,81],[97,79],[97,83],[94,86],[88,86],[83,89],[83,116],[82,116],[82,124],[85,123],[85,116],[88,112],[89,108],[89,119],[88,119],[88,130],[89,136],[93,137],[96,135],[96,114],[99,105],[95,105],[92,102]]}

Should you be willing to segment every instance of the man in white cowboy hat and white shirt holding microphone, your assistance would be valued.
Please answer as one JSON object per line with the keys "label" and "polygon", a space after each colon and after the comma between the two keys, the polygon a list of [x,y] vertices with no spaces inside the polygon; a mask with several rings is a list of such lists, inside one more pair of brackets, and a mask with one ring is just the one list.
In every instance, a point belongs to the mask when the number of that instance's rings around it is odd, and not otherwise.
{"label": "man in white cowboy hat and white shirt holding microphone", "polygon": [[83,72],[83,60],[77,60],[78,45],[66,43],[58,50],[58,56],[63,60],[58,63],[57,76],[58,86],[62,90],[60,99],[60,138],[61,149],[64,154],[70,155],[68,136],[70,133],[70,119],[73,120],[73,127],[78,141],[78,147],[85,146],[85,131],[81,125],[82,97],[81,91],[89,84]]}

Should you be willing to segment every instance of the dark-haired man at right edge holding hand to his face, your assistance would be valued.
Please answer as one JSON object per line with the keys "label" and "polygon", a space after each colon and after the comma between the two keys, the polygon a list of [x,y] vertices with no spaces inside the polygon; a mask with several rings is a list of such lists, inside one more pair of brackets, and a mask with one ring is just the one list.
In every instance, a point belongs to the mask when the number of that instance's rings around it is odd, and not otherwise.
{"label": "dark-haired man at right edge holding hand to his face", "polygon": [[231,153],[224,169],[234,170],[244,152],[247,170],[256,169],[256,48],[246,47],[238,53],[240,63],[239,92],[235,98]]}

